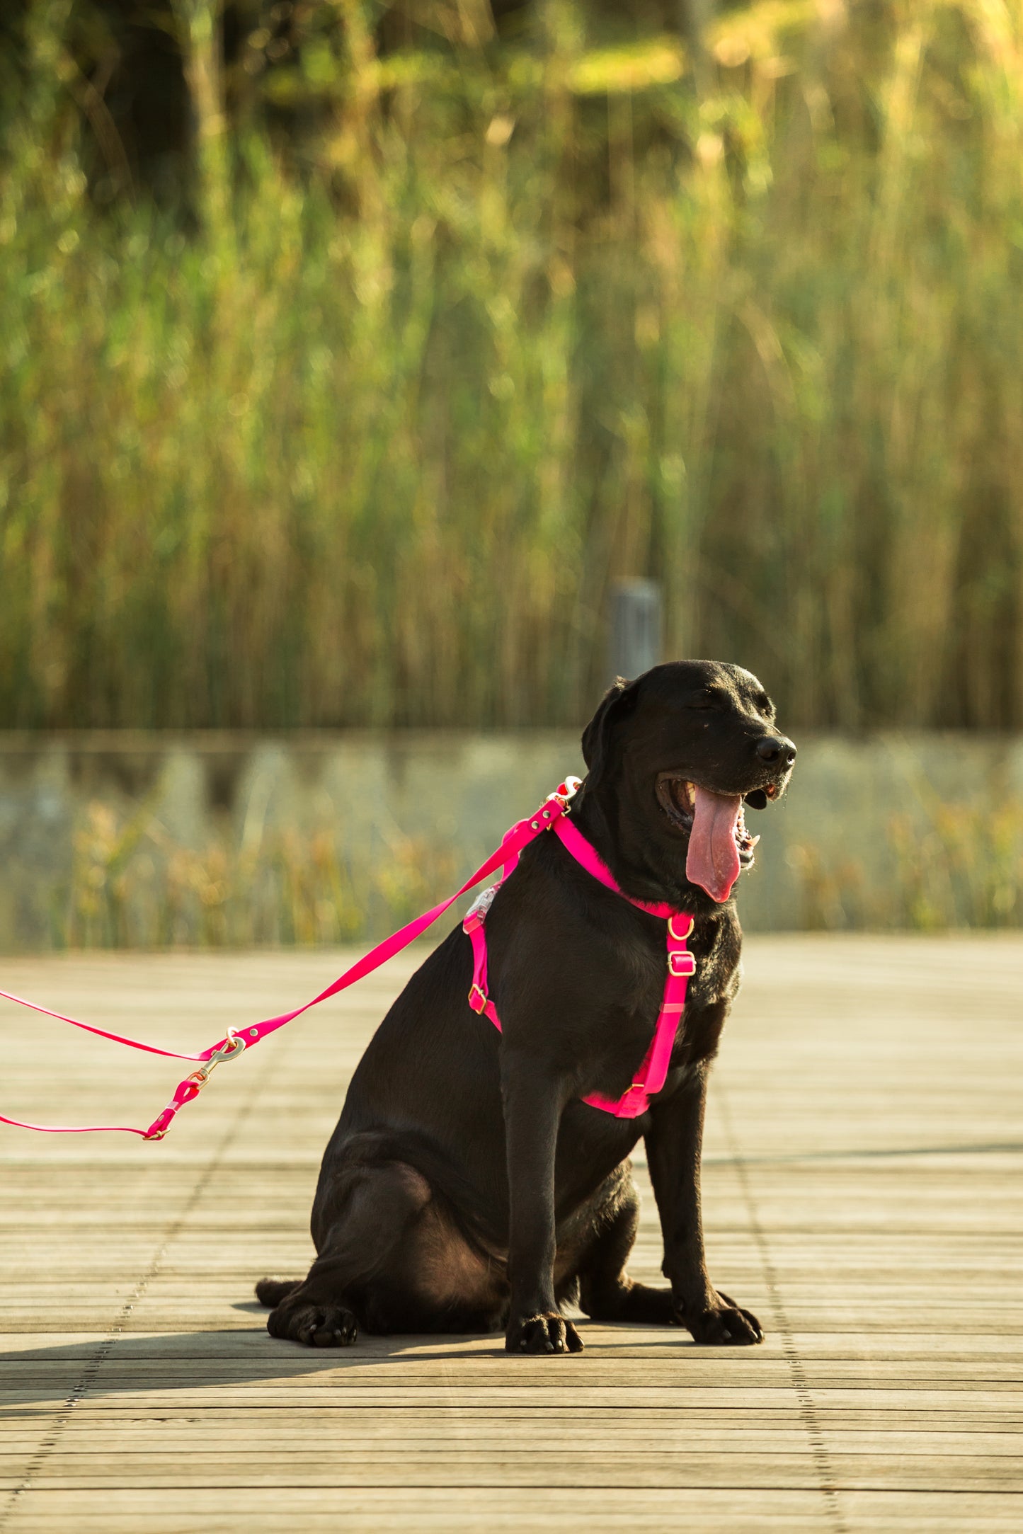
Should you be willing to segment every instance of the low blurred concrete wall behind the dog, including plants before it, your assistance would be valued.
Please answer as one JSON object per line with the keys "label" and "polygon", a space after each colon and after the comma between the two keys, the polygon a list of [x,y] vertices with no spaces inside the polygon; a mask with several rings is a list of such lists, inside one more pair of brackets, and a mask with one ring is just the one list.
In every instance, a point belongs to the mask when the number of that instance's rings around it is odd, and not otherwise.
{"label": "low blurred concrete wall behind the dog, including plants before it", "polygon": [[[748,930],[1020,923],[1023,739],[799,747]],[[581,770],[554,730],[0,733],[0,951],[382,933]]]}

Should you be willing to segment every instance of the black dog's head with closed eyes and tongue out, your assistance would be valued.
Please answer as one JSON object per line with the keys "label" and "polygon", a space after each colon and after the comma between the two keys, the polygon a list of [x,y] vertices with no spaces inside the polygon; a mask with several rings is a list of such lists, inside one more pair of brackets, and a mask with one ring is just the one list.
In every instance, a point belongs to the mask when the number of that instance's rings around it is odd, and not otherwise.
{"label": "black dog's head with closed eyes and tongue out", "polygon": [[[664,888],[724,902],[759,841],[744,804],[785,792],[796,747],[741,666],[672,661],[618,681],[583,733],[586,793],[613,842]],[[702,897],[696,896],[696,904]]]}

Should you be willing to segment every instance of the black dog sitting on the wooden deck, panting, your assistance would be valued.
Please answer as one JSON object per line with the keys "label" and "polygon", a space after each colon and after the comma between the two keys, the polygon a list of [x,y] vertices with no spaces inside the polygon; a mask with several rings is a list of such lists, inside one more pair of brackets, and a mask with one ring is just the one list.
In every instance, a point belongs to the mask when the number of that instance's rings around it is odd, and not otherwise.
{"label": "black dog sitting on the wooden deck, panting", "polygon": [[[577,1353],[560,1307],[598,1321],[678,1322],[698,1342],[759,1342],[707,1276],[699,1150],[710,1062],[738,989],[729,888],[753,862],[742,798],[762,808],[796,747],[759,681],[681,661],[620,683],[583,735],[571,816],[641,900],[695,917],[689,985],[664,1089],[638,1118],[580,1098],[623,1094],[653,1032],[666,928],[540,836],[486,919],[503,1034],[472,1012],[456,930],[380,1023],[348,1088],[313,1204],[319,1256],[264,1279],[271,1336],[317,1347],[367,1332],[494,1332],[528,1353]],[[646,1140],[670,1287],[632,1282],[629,1152]]]}

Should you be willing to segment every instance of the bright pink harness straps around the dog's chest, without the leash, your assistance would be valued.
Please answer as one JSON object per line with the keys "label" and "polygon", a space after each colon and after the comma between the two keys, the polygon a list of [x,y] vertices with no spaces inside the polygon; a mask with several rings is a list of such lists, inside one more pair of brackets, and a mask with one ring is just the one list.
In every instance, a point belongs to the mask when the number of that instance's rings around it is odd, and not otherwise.
{"label": "bright pink harness straps around the dog's chest, without the leash", "polygon": [[[661,920],[667,922],[667,974],[664,977],[664,997],[661,1000],[661,1009],[653,1028],[650,1048],[643,1057],[643,1063],[636,1071],[635,1080],[621,1097],[604,1097],[603,1092],[589,1092],[583,1098],[583,1101],[589,1103],[590,1108],[600,1108],[601,1112],[613,1114],[615,1118],[638,1118],[640,1114],[647,1111],[650,1098],[661,1091],[667,1078],[667,1068],[672,1060],[672,1049],[675,1048],[675,1035],[678,1034],[683,1011],[686,1009],[686,989],[690,977],[696,973],[696,960],[686,948],[686,940],[693,930],[693,919],[689,911],[676,911],[670,905],[655,905],[647,900],[633,900],[633,897],[626,894],[618,885],[610,868],[598,856],[597,850],[590,847],[581,831],[566,821],[564,816],[558,816],[551,830],[554,830],[554,833],[560,838],[572,858],[575,858],[575,861],[595,879],[600,879],[603,885],[613,890],[615,894],[620,894],[624,900],[629,900],[630,905],[635,905],[641,911],[647,911],[650,916],[658,916]],[[505,877],[508,877],[508,874],[505,874]],[[489,1017],[494,1028],[502,1032],[497,1006],[488,992],[485,931],[486,913],[489,911],[498,888],[500,884],[485,890],[483,894],[474,900],[465,916],[465,920],[462,922],[462,930],[472,943],[472,985],[469,986],[469,1006],[474,1012]]]}

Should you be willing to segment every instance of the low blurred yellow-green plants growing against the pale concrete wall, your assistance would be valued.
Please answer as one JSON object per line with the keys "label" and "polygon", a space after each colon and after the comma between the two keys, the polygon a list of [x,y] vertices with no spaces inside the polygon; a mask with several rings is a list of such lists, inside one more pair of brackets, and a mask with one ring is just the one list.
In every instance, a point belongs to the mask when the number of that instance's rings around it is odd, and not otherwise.
{"label": "low blurred yellow-green plants growing against the pale concrete wall", "polygon": [[[1018,928],[1023,917],[1023,801],[992,815],[969,804],[929,816],[888,815],[880,827],[888,876],[863,848],[821,838],[787,861],[799,931]],[[175,845],[143,808],[126,816],[84,807],[66,879],[52,882],[49,942],[64,948],[321,946],[383,937],[457,884],[443,838],[396,833],[387,859],[353,856],[344,827],[313,836],[275,830],[256,854],[230,834]],[[871,848],[876,861],[877,848]],[[465,870],[463,870],[465,871]],[[466,902],[460,902],[465,908]],[[439,931],[442,931],[439,928]]]}

